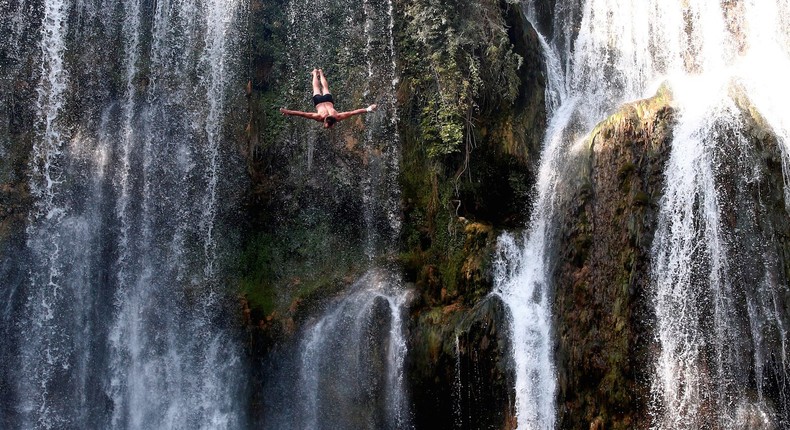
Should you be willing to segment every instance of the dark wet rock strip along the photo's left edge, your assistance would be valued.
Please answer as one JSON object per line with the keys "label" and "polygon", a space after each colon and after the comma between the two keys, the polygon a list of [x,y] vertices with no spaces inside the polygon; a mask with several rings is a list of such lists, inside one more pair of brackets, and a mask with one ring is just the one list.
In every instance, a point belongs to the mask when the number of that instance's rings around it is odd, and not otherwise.
{"label": "dark wet rock strip along the photo's left edge", "polygon": [[[25,243],[25,226],[33,206],[28,172],[36,117],[36,74],[40,67],[40,48],[34,37],[39,20],[21,26],[15,22],[13,14],[24,6],[11,2],[0,8],[0,284],[7,292],[2,312],[5,321],[16,318],[14,312],[21,312],[27,300],[21,289],[10,287],[23,285],[29,276],[27,267],[18,262],[34,258]],[[20,348],[16,328],[14,324],[0,324],[0,362],[16,362]],[[4,428],[13,427],[11,417],[18,413],[14,410],[15,371],[13,366],[0,367],[0,398],[7,400],[0,402],[0,427]]]}

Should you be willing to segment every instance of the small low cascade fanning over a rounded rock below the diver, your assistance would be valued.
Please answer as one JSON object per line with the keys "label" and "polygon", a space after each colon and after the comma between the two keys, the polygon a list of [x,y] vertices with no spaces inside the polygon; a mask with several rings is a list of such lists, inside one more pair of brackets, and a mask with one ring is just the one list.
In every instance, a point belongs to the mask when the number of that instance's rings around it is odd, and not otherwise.
{"label": "small low cascade fanning over a rounded rock below the diver", "polygon": [[308,398],[299,428],[408,428],[406,299],[397,277],[372,270],[308,330],[299,378]]}

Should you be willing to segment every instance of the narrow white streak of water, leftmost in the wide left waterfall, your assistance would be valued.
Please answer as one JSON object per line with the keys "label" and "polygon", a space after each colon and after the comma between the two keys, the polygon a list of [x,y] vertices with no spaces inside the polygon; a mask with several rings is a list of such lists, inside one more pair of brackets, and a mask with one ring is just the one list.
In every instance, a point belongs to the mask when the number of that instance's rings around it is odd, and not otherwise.
{"label": "narrow white streak of water, leftmost in the wide left waterfall", "polygon": [[[59,306],[70,294],[63,284],[64,247],[60,225],[67,215],[63,207],[60,184],[62,155],[66,144],[58,119],[65,104],[68,73],[65,70],[65,38],[68,31],[68,1],[46,1],[41,26],[41,77],[38,85],[36,134],[31,160],[31,193],[36,198],[30,215],[28,246],[36,251],[39,268],[31,271],[33,291],[28,295],[29,321],[32,342],[23,360],[23,391],[25,417],[29,428],[53,428],[65,417],[54,398],[59,368],[69,366],[71,339],[68,330],[60,330],[57,319],[63,317]],[[41,360],[40,357],[44,359]]]}

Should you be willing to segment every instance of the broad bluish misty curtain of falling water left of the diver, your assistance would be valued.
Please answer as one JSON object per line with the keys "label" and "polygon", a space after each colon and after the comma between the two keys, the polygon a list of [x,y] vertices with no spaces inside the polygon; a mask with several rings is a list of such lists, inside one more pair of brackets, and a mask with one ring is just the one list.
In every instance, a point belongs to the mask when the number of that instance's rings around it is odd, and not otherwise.
{"label": "broad bluish misty curtain of falling water left of the diver", "polygon": [[244,369],[223,323],[216,217],[241,2],[2,12],[15,25],[7,52],[40,48],[34,75],[17,76],[37,85],[34,208],[31,261],[11,257],[29,276],[3,286],[3,423],[239,427]]}

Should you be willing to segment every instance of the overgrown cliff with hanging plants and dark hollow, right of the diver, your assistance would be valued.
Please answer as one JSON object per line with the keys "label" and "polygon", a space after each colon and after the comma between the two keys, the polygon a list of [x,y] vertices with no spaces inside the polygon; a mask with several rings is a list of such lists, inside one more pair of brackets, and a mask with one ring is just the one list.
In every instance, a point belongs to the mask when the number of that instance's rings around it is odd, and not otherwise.
{"label": "overgrown cliff with hanging plants and dark hollow, right of the diver", "polygon": [[[528,212],[539,139],[523,130],[541,123],[541,83],[524,67],[527,30],[509,3],[411,0],[400,9],[402,260],[426,303],[474,303],[490,289],[490,262],[470,252],[490,253],[491,228],[521,225]],[[487,225],[485,252],[470,249],[480,234],[470,224]]]}

